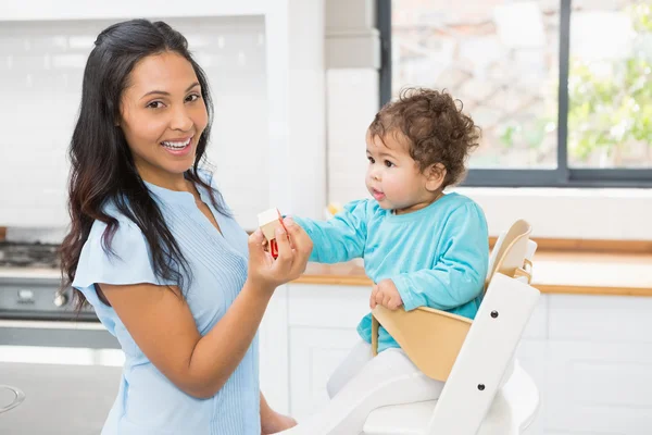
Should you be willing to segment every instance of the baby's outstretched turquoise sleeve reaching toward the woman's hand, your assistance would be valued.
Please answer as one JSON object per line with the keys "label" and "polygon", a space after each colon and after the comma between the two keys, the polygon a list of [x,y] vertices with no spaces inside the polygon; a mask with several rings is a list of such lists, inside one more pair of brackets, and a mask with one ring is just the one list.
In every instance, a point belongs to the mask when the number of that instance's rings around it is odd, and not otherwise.
{"label": "baby's outstretched turquoise sleeve reaching toward the woman's hand", "polygon": [[324,222],[291,216],[313,241],[310,261],[339,263],[360,258],[366,240],[367,201],[353,201]]}

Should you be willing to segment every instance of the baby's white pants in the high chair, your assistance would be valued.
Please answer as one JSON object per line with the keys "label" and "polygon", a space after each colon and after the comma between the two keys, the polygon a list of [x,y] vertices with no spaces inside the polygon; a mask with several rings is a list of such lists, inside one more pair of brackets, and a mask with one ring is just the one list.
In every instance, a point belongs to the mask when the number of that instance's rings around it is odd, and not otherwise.
{"label": "baby's white pants in the high chair", "polygon": [[360,340],[328,381],[330,401],[283,434],[358,435],[371,411],[388,405],[439,398],[443,383],[423,374],[401,349],[373,358]]}

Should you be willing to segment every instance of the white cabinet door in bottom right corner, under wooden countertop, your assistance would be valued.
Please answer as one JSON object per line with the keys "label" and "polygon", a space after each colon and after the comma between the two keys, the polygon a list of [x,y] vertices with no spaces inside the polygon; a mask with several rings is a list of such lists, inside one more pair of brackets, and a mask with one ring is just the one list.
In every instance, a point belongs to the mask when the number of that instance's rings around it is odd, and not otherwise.
{"label": "white cabinet door in bottom right corner, under wooden countertop", "polygon": [[650,434],[652,298],[552,295],[547,433]]}

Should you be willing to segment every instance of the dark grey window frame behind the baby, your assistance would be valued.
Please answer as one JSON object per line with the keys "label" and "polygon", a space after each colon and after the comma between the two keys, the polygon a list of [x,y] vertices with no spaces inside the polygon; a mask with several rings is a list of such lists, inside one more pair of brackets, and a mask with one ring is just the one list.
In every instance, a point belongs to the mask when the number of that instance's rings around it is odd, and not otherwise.
{"label": "dark grey window frame behind the baby", "polygon": [[[570,58],[570,2],[560,0],[560,71],[557,167],[469,169],[461,186],[468,187],[652,187],[652,169],[576,169],[568,165],[568,70]],[[391,0],[376,0],[380,34],[380,105],[391,99]]]}

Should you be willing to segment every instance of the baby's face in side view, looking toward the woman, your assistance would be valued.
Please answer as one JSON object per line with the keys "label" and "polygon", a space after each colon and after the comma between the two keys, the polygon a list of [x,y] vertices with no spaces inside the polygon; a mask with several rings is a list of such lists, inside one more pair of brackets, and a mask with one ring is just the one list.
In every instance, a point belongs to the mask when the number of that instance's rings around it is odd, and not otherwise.
{"label": "baby's face in side view, looking toward the woman", "polygon": [[403,135],[389,133],[380,138],[367,132],[366,145],[366,186],[383,209],[410,213],[435,200],[436,195],[426,188],[427,177],[410,156],[410,144]]}

